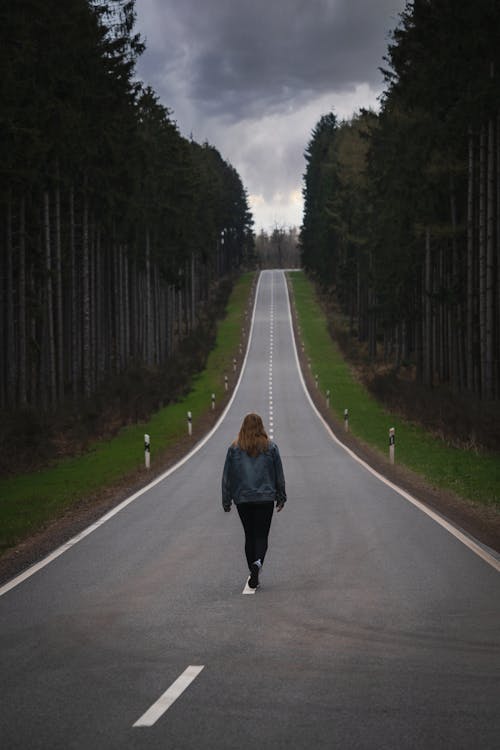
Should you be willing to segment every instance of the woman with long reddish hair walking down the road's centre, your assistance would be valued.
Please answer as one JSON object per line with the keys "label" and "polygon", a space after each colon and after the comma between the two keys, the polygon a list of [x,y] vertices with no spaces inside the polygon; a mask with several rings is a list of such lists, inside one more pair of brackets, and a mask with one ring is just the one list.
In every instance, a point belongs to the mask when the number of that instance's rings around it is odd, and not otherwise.
{"label": "woman with long reddish hair walking down the road's centre", "polygon": [[278,446],[269,440],[258,414],[247,414],[238,438],[230,445],[222,475],[222,507],[234,501],[245,530],[248,586],[256,589],[267,551],[274,503],[286,503],[285,477]]}

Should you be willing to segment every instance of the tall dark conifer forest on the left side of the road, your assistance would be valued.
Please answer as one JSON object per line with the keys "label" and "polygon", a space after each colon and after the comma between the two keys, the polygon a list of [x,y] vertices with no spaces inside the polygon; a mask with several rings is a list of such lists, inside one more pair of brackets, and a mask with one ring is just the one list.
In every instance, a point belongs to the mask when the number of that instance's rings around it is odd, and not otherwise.
{"label": "tall dark conifer forest on the left side of the road", "polygon": [[157,367],[252,251],[237,172],[149,87],[134,1],[0,10],[0,409]]}

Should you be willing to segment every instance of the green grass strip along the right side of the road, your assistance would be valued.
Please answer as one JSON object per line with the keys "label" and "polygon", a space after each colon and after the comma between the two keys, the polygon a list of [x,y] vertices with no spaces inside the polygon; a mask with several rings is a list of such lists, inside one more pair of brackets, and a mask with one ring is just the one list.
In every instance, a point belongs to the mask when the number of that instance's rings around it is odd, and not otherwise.
{"label": "green grass strip along the right side of the road", "polygon": [[434,486],[475,502],[500,506],[500,458],[454,448],[422,427],[388,413],[367,392],[342,358],[327,329],[313,285],[302,273],[290,274],[302,339],[318,375],[330,390],[330,408],[339,419],[349,410],[349,430],[388,456],[389,428],[396,430],[396,463],[421,474]]}

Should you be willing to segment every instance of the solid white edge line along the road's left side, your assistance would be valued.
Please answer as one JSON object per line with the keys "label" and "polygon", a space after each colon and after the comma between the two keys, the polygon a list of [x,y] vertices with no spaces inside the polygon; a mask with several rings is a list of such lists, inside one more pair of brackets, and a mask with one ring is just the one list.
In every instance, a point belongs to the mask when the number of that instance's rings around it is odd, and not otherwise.
{"label": "solid white edge line along the road's left side", "polygon": [[217,420],[217,422],[215,423],[215,425],[212,427],[212,429],[210,430],[210,432],[207,433],[207,435],[205,435],[205,437],[202,438],[199,443],[196,443],[196,445],[193,447],[193,449],[189,453],[187,453],[184,456],[184,458],[182,458],[180,461],[178,461],[176,464],[174,464],[174,466],[171,466],[170,469],[168,469],[167,471],[165,471],[163,474],[160,474],[159,476],[157,476],[156,479],[154,479],[152,482],[150,482],[149,484],[147,484],[141,490],[138,490],[133,495],[131,495],[130,497],[128,497],[125,500],[123,500],[121,503],[119,503],[119,505],[116,505],[114,508],[112,508],[110,511],[108,511],[104,516],[102,516],[101,518],[99,518],[95,523],[91,524],[91,526],[88,526],[86,529],[84,529],[83,531],[81,531],[79,534],[77,534],[76,536],[74,536],[71,539],[69,539],[67,542],[65,542],[60,547],[58,547],[53,552],[51,552],[49,555],[47,555],[47,557],[44,557],[39,562],[35,563],[31,567],[29,567],[25,571],[23,571],[23,573],[20,573],[18,576],[15,576],[10,581],[8,581],[3,586],[1,586],[0,587],[0,596],[3,596],[4,594],[6,594],[11,589],[15,588],[16,586],[19,586],[20,583],[22,583],[23,581],[26,581],[28,578],[31,578],[32,575],[34,575],[35,573],[38,573],[39,570],[42,570],[42,568],[45,568],[53,560],[56,560],[58,557],[60,557],[65,552],[67,552],[69,549],[71,549],[71,547],[74,547],[75,544],[78,544],[78,542],[81,542],[82,539],[85,539],[86,536],[89,536],[89,534],[92,534],[93,531],[95,531],[100,526],[102,526],[103,524],[105,524],[106,521],[109,521],[110,518],[113,518],[113,516],[116,516],[116,514],[119,513],[121,510],[123,510],[124,508],[126,508],[127,505],[130,505],[130,503],[134,502],[134,500],[137,500],[138,497],[140,497],[141,495],[144,495],[144,493],[148,492],[152,487],[155,487],[160,482],[163,482],[164,479],[166,479],[171,474],[173,474],[174,471],[177,471],[177,469],[180,469],[180,467],[183,466],[186,463],[186,461],[189,461],[189,459],[192,456],[194,456],[201,448],[203,448],[203,446],[205,445],[205,443],[207,443],[210,440],[210,438],[212,437],[212,435],[219,429],[220,425],[222,424],[222,422],[226,418],[226,414],[229,411],[229,409],[231,408],[234,399],[236,398],[236,394],[238,393],[238,390],[239,390],[239,387],[240,387],[240,383],[241,383],[241,380],[243,378],[243,374],[245,372],[245,368],[246,368],[246,364],[247,364],[247,359],[248,359],[248,353],[250,351],[250,344],[252,342],[252,333],[253,333],[253,327],[254,327],[254,322],[255,322],[255,311],[256,311],[256,308],[257,308],[257,299],[259,297],[260,282],[261,282],[261,279],[262,279],[262,275],[263,275],[263,273],[261,272],[260,276],[259,276],[259,280],[257,282],[257,288],[255,290],[255,299],[254,299],[253,311],[252,311],[252,321],[251,321],[251,324],[250,324],[250,331],[248,333],[247,349],[246,349],[246,352],[245,352],[245,357],[243,359],[243,363],[241,365],[240,376],[239,376],[238,381],[237,381],[237,383],[236,383],[236,385],[234,387],[234,391],[233,391],[233,393],[231,395],[231,398],[229,399],[228,403],[226,404],[226,408],[224,409],[224,411],[222,412],[222,414],[220,415],[219,419]]}

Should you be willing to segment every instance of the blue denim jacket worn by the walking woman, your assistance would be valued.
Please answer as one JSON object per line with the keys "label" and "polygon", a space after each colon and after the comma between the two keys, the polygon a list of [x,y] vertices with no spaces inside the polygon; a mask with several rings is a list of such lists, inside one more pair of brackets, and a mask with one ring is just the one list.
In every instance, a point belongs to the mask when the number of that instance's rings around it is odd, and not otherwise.
{"label": "blue denim jacket worn by the walking woman", "polygon": [[231,501],[254,503],[274,501],[278,505],[286,502],[285,477],[276,443],[257,456],[231,445],[227,451],[222,474],[222,506],[231,507]]}

